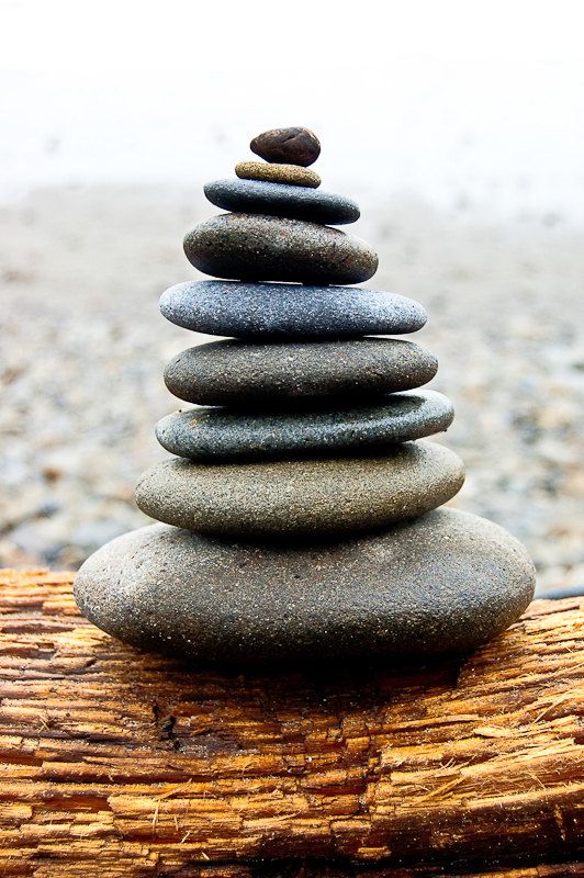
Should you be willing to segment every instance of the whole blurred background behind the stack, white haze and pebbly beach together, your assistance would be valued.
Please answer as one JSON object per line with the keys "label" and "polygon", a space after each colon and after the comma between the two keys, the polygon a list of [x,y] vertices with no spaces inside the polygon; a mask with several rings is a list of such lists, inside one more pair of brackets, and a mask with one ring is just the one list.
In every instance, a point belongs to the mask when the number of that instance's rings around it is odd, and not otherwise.
{"label": "whole blurred background behind the stack, white haze and pebbly beach together", "polygon": [[146,522],[158,313],[249,139],[321,138],[368,284],[419,300],[453,401],[453,505],[584,584],[584,59],[577,2],[0,3],[0,565],[70,567]]}

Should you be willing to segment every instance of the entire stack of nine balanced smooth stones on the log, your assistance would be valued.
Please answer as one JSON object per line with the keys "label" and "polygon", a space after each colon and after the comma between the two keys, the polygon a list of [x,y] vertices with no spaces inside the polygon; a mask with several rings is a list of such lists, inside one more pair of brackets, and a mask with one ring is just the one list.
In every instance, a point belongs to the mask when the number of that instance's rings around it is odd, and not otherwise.
{"label": "entire stack of nine balanced smooth stones on the log", "polygon": [[445,396],[416,390],[436,358],[375,338],[413,333],[426,313],[347,285],[378,257],[332,228],[359,209],[318,189],[314,134],[266,132],[251,149],[263,160],[205,187],[229,213],[184,239],[191,263],[223,280],[180,283],[160,302],[172,323],[229,337],[166,369],[169,390],[199,407],[158,424],[178,457],[137,486],[165,524],[89,559],[78,604],[122,640],[204,663],[472,649],[526,608],[534,569],[496,525],[437,508],[464,476],[451,451],[416,441],[453,417]]}

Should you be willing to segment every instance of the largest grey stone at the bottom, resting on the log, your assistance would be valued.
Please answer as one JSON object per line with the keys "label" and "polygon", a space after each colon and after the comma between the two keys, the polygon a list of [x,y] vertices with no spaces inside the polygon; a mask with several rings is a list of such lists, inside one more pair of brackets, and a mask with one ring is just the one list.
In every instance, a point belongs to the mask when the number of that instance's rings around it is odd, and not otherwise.
{"label": "largest grey stone at the bottom, resting on the log", "polygon": [[86,561],[75,595],[141,648],[271,665],[472,650],[526,609],[534,575],[502,528],[437,509],[345,542],[233,543],[154,525]]}

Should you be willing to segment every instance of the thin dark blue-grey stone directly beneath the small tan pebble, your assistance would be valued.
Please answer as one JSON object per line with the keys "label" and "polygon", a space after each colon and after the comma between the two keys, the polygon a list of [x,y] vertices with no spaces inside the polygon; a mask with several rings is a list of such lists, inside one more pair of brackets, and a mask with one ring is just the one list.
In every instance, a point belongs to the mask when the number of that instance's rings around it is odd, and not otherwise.
{"label": "thin dark blue-grey stone directly beneath the small tan pebble", "polygon": [[344,195],[321,189],[265,180],[214,180],[205,183],[209,201],[223,211],[262,213],[310,223],[344,225],[359,219],[359,206]]}

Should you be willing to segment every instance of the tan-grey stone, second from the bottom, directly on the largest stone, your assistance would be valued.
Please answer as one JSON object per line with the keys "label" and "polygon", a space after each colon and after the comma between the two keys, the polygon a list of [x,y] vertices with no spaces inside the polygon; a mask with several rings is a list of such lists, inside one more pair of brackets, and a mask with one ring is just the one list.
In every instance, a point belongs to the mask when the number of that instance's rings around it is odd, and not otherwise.
{"label": "tan-grey stone, second from the bottom, directly on the largest stone", "polygon": [[383,457],[150,466],[136,487],[146,515],[204,533],[346,533],[414,518],[446,503],[464,481],[462,461],[433,442]]}

